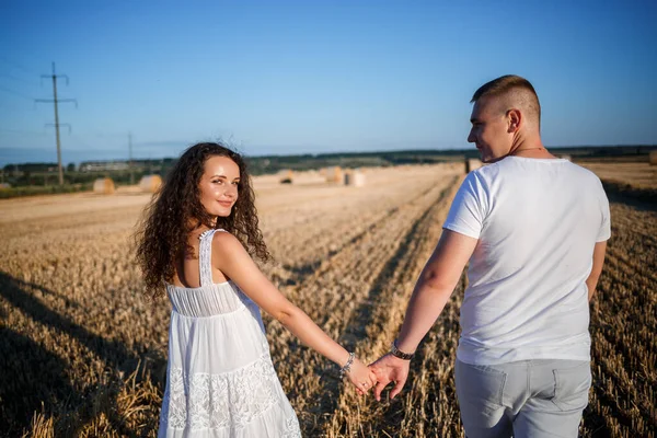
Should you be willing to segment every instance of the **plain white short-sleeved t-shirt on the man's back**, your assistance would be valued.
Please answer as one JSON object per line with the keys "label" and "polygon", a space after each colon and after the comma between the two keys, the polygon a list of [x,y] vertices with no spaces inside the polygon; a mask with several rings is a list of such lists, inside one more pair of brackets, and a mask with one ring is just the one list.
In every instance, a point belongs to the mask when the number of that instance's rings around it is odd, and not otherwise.
{"label": "plain white short-sleeved t-shirt on the man's back", "polygon": [[443,228],[479,239],[461,306],[461,361],[590,359],[585,281],[596,242],[611,235],[592,172],[505,158],[465,177]]}

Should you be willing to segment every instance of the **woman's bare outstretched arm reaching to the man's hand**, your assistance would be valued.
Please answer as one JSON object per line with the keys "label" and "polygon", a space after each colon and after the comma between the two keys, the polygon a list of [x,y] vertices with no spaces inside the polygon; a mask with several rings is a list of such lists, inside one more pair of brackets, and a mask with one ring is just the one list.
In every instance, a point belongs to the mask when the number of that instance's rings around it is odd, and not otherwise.
{"label": "woman's bare outstretched arm reaching to the man's hand", "polygon": [[[343,367],[349,353],[324,333],[301,309],[292,304],[260,270],[240,241],[226,232],[215,233],[212,241],[215,267],[233,280],[261,309],[279,321],[303,344],[328,360]],[[373,373],[359,360],[351,366],[349,379],[367,382],[368,389],[376,383]],[[360,390],[361,387],[358,387]]]}

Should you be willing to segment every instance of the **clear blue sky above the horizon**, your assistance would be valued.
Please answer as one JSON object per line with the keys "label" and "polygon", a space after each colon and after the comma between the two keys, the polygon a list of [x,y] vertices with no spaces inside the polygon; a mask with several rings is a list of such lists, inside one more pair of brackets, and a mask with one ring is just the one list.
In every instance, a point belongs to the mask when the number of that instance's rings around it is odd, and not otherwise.
{"label": "clear blue sky above the horizon", "polygon": [[0,3],[0,165],[468,148],[472,93],[529,79],[548,146],[657,143],[655,1]]}

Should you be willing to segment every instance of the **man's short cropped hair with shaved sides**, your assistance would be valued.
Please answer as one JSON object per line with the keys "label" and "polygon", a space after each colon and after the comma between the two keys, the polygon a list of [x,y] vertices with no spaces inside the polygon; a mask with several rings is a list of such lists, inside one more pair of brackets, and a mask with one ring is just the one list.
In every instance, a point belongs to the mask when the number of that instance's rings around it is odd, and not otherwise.
{"label": "man's short cropped hair with shaved sides", "polygon": [[491,82],[484,83],[472,95],[470,103],[474,103],[482,97],[503,97],[508,96],[514,104],[519,104],[527,111],[528,117],[535,117],[538,126],[541,125],[541,104],[533,85],[525,78],[516,74],[506,74]]}

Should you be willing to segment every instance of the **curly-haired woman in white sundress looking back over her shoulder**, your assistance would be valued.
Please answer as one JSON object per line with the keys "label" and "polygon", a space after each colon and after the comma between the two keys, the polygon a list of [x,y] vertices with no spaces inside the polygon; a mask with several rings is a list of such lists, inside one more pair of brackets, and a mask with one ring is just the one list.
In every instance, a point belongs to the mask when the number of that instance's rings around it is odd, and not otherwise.
{"label": "curly-haired woman in white sundress looking back over her shoulder", "polygon": [[165,289],[173,308],[159,436],[300,436],[260,309],[337,364],[360,393],[376,383],[365,364],[289,302],[251,258],[269,254],[238,153],[218,143],[188,148],[137,237],[147,292]]}

